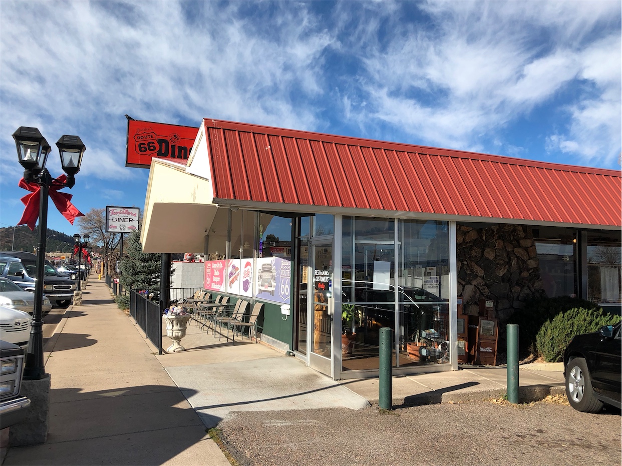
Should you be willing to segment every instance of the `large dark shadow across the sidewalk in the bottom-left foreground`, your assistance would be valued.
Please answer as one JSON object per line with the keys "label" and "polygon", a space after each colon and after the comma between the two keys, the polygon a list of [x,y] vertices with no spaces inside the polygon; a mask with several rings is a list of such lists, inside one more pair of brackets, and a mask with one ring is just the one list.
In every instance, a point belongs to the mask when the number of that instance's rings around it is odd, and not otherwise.
{"label": "large dark shadow across the sidewalk in the bottom-left foreground", "polygon": [[164,464],[206,440],[205,426],[175,386],[60,388],[50,400],[45,444],[10,448],[5,465]]}

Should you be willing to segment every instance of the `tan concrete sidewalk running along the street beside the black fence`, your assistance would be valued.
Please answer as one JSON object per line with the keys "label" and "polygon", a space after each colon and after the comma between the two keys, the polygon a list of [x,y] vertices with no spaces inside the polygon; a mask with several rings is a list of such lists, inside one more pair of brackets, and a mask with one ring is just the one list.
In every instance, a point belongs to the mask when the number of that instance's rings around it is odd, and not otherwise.
{"label": "tan concrete sidewalk running along the street beside the black fence", "polygon": [[[95,276],[96,277],[96,276]],[[131,318],[92,280],[45,347],[47,442],[10,447],[5,465],[228,466]]]}

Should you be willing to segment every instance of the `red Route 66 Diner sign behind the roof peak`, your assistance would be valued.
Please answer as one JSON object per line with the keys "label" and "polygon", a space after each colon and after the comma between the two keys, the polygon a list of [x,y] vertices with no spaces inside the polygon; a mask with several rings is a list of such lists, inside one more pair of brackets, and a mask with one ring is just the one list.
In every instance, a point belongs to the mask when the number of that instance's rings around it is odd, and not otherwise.
{"label": "red Route 66 Diner sign behind the roof peak", "polygon": [[125,166],[149,168],[154,157],[186,165],[197,132],[198,128],[190,126],[140,121],[128,117]]}

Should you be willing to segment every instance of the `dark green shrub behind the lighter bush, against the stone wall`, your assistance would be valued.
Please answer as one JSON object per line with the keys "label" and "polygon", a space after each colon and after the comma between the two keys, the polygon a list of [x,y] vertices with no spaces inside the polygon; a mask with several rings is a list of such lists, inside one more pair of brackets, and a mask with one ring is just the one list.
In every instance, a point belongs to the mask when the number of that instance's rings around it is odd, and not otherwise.
{"label": "dark green shrub behind the lighter bush, against the stone wall", "polygon": [[533,299],[523,309],[516,311],[509,319],[509,324],[518,324],[519,352],[523,357],[537,354],[536,335],[542,324],[558,314],[573,308],[599,309],[598,305],[585,299],[559,296],[559,298]]}

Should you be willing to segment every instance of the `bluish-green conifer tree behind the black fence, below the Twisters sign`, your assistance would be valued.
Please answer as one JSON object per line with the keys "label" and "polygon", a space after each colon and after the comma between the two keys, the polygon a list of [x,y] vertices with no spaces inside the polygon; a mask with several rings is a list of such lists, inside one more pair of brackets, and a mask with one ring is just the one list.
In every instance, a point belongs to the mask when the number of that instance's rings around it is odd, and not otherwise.
{"label": "bluish-green conifer tree behind the black fence, below the Twisters sign", "polygon": [[139,232],[133,231],[129,236],[127,253],[121,259],[121,276],[119,281],[126,290],[149,290],[157,300],[160,295],[161,255],[142,252]]}

